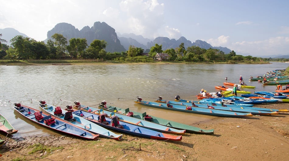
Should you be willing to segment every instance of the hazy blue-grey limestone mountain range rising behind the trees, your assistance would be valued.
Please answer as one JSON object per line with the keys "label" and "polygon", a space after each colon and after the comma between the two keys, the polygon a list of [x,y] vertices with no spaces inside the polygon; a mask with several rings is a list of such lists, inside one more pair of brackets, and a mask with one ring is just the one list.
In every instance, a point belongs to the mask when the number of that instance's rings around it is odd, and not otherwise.
{"label": "hazy blue-grey limestone mountain range rising behind the trees", "polygon": [[[1,38],[7,40],[7,43],[5,43],[7,45],[10,45],[9,41],[16,35],[28,37],[27,35],[20,33],[13,28],[0,29],[0,33],[2,33]],[[176,47],[179,47],[181,43],[184,43],[185,48],[190,46],[199,46],[200,48],[204,49],[219,49],[220,51],[224,51],[226,54],[231,52],[231,50],[227,47],[213,47],[202,40],[196,40],[194,43],[192,43],[185,37],[180,37],[178,40],[169,39],[168,37],[157,37],[155,40],[150,40],[144,38],[141,35],[135,35],[133,33],[118,33],[118,36],[116,31],[105,22],[95,22],[92,27],[84,26],[81,30],[78,30],[75,28],[75,26],[69,23],[58,23],[54,26],[53,29],[47,32],[47,39],[45,39],[44,42],[52,39],[51,36],[54,33],[62,34],[68,41],[71,38],[85,38],[88,44],[90,44],[95,39],[105,40],[107,42],[106,51],[109,52],[127,51],[130,45],[146,50],[150,49],[152,46],[155,46],[155,44],[162,45],[162,50],[165,51],[166,49],[175,49]]]}

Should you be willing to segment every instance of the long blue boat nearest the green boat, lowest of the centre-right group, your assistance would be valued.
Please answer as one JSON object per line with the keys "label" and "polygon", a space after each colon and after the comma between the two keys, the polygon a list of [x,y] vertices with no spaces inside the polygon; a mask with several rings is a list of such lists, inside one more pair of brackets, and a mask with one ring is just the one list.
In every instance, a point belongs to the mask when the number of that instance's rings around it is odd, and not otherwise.
{"label": "long blue boat nearest the green boat, lowest of the centre-right group", "polygon": [[224,110],[206,109],[206,108],[193,107],[193,106],[188,107],[188,106],[182,106],[182,105],[170,105],[167,103],[157,103],[157,102],[149,102],[149,101],[134,101],[134,102],[142,104],[142,105],[150,106],[150,107],[190,112],[190,113],[195,113],[195,114],[205,114],[205,115],[213,115],[213,116],[221,116],[221,117],[253,116],[251,113],[239,113],[239,112],[231,112],[231,111],[224,111]]}

